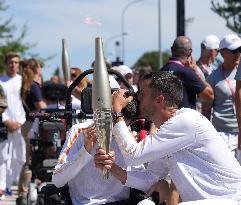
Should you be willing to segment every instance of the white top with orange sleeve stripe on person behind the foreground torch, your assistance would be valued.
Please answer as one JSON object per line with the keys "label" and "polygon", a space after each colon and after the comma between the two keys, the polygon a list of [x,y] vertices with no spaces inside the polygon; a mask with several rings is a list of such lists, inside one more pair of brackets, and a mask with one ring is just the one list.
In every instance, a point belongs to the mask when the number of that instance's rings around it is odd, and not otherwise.
{"label": "white top with orange sleeve stripe on person behind the foreground torch", "polygon": [[[68,183],[73,205],[102,204],[129,198],[129,188],[114,176],[103,179],[101,170],[95,167],[93,155],[97,146],[91,155],[85,150],[83,130],[92,123],[76,124],[69,130],[52,177],[57,187]],[[115,140],[112,140],[111,149],[116,152],[116,164],[127,168]]]}

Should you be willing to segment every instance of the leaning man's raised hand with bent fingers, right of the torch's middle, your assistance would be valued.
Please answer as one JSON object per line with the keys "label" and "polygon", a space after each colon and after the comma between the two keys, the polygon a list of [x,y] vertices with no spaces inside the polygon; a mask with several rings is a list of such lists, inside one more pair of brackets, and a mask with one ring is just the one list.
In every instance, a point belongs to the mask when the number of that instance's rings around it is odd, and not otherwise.
{"label": "leaning man's raised hand with bent fingers, right of the torch's middle", "polygon": [[127,90],[120,89],[112,94],[112,106],[114,112],[121,112],[121,110],[133,100],[132,96],[126,96]]}

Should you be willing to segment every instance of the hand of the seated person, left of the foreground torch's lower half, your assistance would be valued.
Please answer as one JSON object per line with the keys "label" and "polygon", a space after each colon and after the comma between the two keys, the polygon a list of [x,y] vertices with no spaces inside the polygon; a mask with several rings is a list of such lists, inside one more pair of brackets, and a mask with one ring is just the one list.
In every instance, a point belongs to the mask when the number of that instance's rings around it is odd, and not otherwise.
{"label": "hand of the seated person, left of the foreground torch's lower half", "polygon": [[90,154],[97,141],[96,129],[94,126],[89,127],[85,130],[84,141],[85,141],[85,145],[84,145],[85,149]]}

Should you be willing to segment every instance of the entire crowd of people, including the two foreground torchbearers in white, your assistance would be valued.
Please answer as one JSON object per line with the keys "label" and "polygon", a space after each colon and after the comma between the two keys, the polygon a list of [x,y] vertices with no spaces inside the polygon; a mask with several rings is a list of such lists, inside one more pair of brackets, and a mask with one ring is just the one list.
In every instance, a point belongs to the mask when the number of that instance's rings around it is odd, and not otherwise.
{"label": "entire crowd of people, including the two foreground torchbearers in white", "polygon": [[[241,203],[241,39],[208,35],[197,61],[187,36],[178,36],[170,48],[171,57],[157,72],[149,65],[112,67],[106,60],[107,69],[122,74],[136,94],[127,95],[121,79],[109,76],[116,90],[109,153],[98,146],[93,119],[76,122],[62,139],[52,183],[67,184],[73,205],[155,204],[155,192],[167,205]],[[27,205],[33,179],[30,139],[38,126],[28,113],[51,107],[46,83],[64,83],[58,76],[43,82],[36,59],[21,60],[11,52],[5,63],[6,74],[0,77],[0,200],[17,183],[16,203]],[[81,73],[71,68],[66,88]],[[82,109],[81,93],[90,86],[85,77],[73,90],[75,110]],[[103,179],[103,169],[110,171],[109,179]]]}

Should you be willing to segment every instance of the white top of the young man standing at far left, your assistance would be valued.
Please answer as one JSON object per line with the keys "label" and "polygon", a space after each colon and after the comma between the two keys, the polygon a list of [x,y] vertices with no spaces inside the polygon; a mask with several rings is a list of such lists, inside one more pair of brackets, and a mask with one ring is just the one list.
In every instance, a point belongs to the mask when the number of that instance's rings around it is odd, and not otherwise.
{"label": "white top of the young man standing at far left", "polygon": [[5,75],[0,78],[0,84],[3,87],[3,91],[7,98],[7,103],[8,103],[7,109],[2,114],[3,122],[11,119],[11,120],[17,121],[20,124],[23,124],[26,118],[25,118],[25,111],[23,108],[23,103],[20,95],[21,86],[22,86],[22,77],[18,74],[12,78]]}

